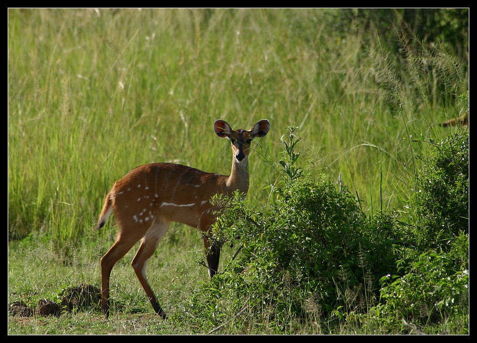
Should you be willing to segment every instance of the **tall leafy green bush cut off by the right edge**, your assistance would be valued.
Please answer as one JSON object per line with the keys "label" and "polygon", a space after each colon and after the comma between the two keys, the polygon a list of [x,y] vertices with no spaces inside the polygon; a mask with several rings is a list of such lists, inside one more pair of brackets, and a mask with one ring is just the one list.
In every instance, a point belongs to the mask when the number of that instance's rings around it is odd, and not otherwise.
{"label": "tall leafy green bush cut off by the right edge", "polygon": [[[415,249],[403,251],[398,275],[381,279],[381,324],[402,320],[418,325],[466,322],[469,296],[469,136],[458,130],[435,144],[419,173],[414,231]],[[464,329],[465,330],[465,329]]]}

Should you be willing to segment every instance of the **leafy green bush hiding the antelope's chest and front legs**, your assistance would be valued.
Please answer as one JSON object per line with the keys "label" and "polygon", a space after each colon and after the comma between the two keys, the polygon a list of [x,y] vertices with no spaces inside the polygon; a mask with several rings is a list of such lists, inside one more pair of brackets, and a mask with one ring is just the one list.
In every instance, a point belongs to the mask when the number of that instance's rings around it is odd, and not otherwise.
{"label": "leafy green bush hiding the antelope's chest and front legs", "polygon": [[273,188],[269,208],[247,208],[241,194],[217,200],[227,209],[211,239],[241,254],[191,299],[191,310],[211,325],[245,310],[253,318],[245,326],[288,332],[292,322],[365,311],[379,296],[379,279],[394,269],[394,219],[368,218],[346,187],[304,176],[293,129],[288,139],[283,186]]}

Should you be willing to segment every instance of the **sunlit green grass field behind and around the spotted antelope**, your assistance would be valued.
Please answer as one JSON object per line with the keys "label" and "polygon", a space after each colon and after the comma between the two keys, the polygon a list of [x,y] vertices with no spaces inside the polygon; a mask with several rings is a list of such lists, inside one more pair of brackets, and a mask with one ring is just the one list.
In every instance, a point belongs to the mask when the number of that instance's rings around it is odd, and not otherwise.
{"label": "sunlit green grass field behind and around the spotted antelope", "polygon": [[[468,55],[405,25],[384,37],[358,21],[340,26],[337,11],[9,9],[9,300],[100,283],[116,230],[113,221],[94,227],[107,191],[133,167],[230,173],[216,119],[233,129],[270,120],[250,156],[251,202],[270,201],[280,138],[295,126],[302,166],[336,182],[341,174],[370,213],[406,212],[427,142],[445,138],[454,128],[438,124],[468,106],[459,97],[469,89]],[[204,333],[152,314],[133,254],[116,265],[112,293],[139,317],[15,319],[8,332]],[[165,308],[187,311],[183,299],[207,279],[202,255],[199,233],[171,226],[148,266]]]}

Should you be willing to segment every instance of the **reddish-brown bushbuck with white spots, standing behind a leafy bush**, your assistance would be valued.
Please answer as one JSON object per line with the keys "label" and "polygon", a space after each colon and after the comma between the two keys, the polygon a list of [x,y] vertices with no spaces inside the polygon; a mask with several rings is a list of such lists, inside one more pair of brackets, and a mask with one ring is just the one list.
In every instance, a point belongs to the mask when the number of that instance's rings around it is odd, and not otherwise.
{"label": "reddish-brown bushbuck with white spots, standing behind a leafy bush", "polygon": [[[166,317],[146,278],[146,266],[169,228],[179,222],[208,232],[216,219],[210,204],[214,194],[230,197],[238,190],[246,194],[249,187],[248,155],[253,138],[264,137],[270,122],[259,120],[250,130],[232,130],[224,120],[214,122],[215,134],[228,138],[232,146],[230,175],[207,173],[185,165],[150,163],[131,170],[116,181],[106,195],[97,228],[114,213],[119,234],[111,249],[101,258],[101,307],[110,314],[110,276],[113,266],[140,239],[142,242],[131,263],[150,303],[158,315]],[[203,238],[209,276],[219,267],[220,247]]]}

